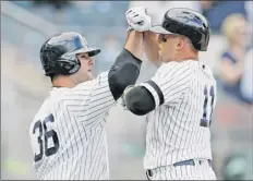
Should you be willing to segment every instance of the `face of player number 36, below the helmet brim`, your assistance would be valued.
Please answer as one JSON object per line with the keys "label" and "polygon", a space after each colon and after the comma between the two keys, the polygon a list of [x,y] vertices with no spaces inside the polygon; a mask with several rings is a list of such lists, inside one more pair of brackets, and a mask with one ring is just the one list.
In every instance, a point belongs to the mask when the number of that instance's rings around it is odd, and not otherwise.
{"label": "face of player number 36, below the helmet brim", "polygon": [[79,82],[85,82],[93,79],[93,59],[86,53],[82,52],[76,55],[77,59],[81,62],[81,68],[77,72]]}

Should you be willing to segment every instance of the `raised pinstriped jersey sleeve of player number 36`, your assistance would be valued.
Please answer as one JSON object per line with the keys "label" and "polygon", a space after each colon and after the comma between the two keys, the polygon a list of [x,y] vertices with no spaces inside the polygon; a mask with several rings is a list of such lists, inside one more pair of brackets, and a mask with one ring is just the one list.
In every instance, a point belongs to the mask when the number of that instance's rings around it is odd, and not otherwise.
{"label": "raised pinstriped jersey sleeve of player number 36", "polygon": [[69,93],[68,99],[70,99],[69,109],[81,122],[92,123],[105,117],[116,104],[108,83],[108,72],[77,85]]}

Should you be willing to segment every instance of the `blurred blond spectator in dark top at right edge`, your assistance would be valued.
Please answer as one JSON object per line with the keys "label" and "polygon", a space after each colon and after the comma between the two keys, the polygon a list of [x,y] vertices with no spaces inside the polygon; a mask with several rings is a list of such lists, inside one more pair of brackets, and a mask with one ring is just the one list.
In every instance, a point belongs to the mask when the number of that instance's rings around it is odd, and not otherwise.
{"label": "blurred blond spectator in dark top at right edge", "polygon": [[224,90],[240,100],[251,102],[242,97],[240,89],[249,46],[249,24],[242,14],[231,14],[224,21],[221,31],[228,48],[221,56],[219,81]]}

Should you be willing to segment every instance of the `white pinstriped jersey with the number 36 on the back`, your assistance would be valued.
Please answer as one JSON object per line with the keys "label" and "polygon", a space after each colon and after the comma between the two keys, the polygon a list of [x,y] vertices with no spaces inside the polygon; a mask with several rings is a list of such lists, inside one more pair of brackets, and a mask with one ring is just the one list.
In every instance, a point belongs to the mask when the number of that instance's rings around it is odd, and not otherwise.
{"label": "white pinstriped jersey with the number 36 on the back", "polygon": [[109,180],[105,117],[115,105],[108,72],[52,88],[31,124],[40,180]]}

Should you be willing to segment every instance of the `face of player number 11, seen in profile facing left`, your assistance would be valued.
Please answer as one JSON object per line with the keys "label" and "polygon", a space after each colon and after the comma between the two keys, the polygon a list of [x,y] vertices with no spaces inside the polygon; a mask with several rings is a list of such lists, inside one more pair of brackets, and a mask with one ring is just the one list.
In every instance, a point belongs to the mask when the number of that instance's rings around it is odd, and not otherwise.
{"label": "face of player number 11, seen in profile facing left", "polygon": [[177,53],[179,37],[177,35],[158,35],[159,59],[162,62],[172,61]]}

